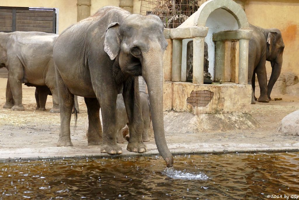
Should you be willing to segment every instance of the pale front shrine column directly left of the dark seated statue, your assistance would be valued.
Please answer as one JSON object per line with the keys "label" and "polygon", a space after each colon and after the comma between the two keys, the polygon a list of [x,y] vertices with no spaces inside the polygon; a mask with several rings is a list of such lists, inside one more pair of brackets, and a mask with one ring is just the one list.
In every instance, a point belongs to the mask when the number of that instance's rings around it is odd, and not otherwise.
{"label": "pale front shrine column directly left of the dark seated statue", "polygon": [[205,37],[193,38],[193,83],[204,83]]}

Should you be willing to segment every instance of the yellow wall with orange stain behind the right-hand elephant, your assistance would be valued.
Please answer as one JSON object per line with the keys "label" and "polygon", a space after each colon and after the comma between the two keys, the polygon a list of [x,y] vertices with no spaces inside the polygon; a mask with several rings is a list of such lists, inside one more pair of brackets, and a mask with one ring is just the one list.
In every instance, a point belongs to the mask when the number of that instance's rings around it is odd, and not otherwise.
{"label": "yellow wall with orange stain behind the right-hand elephant", "polygon": [[[262,28],[280,29],[285,43],[282,72],[293,71],[299,75],[299,1],[248,0],[245,13],[248,21]],[[271,64],[267,62],[267,72]]]}

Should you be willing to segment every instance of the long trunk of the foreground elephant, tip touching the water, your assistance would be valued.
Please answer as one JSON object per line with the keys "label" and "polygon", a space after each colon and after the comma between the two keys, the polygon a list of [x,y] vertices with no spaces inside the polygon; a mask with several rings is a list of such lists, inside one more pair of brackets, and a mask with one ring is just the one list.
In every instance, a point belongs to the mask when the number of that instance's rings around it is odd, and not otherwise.
{"label": "long trunk of the foreground elephant, tip touching the water", "polygon": [[[149,53],[151,52],[151,53]],[[148,54],[154,52],[149,51]],[[146,59],[143,55],[142,76],[147,83],[149,92],[149,104],[152,115],[152,126],[155,135],[155,142],[159,153],[166,161],[167,167],[173,166],[173,156],[170,153],[164,134],[164,121],[163,121],[163,54],[160,56],[153,56]]]}

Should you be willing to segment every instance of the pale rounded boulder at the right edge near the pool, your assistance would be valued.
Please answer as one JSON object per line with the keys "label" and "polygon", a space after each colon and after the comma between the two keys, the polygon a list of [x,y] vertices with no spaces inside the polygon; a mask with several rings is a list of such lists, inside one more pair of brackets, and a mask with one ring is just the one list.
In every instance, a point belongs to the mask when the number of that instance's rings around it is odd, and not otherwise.
{"label": "pale rounded boulder at the right edge near the pool", "polygon": [[299,110],[286,115],[278,125],[277,132],[298,136],[299,135]]}

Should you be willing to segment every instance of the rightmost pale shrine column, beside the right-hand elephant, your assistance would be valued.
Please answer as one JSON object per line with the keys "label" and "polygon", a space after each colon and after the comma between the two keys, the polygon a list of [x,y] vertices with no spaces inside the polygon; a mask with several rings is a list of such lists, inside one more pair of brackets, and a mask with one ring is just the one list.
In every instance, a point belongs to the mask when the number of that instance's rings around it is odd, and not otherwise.
{"label": "rightmost pale shrine column, beside the right-hand elephant", "polygon": [[248,39],[239,40],[239,84],[248,84]]}

